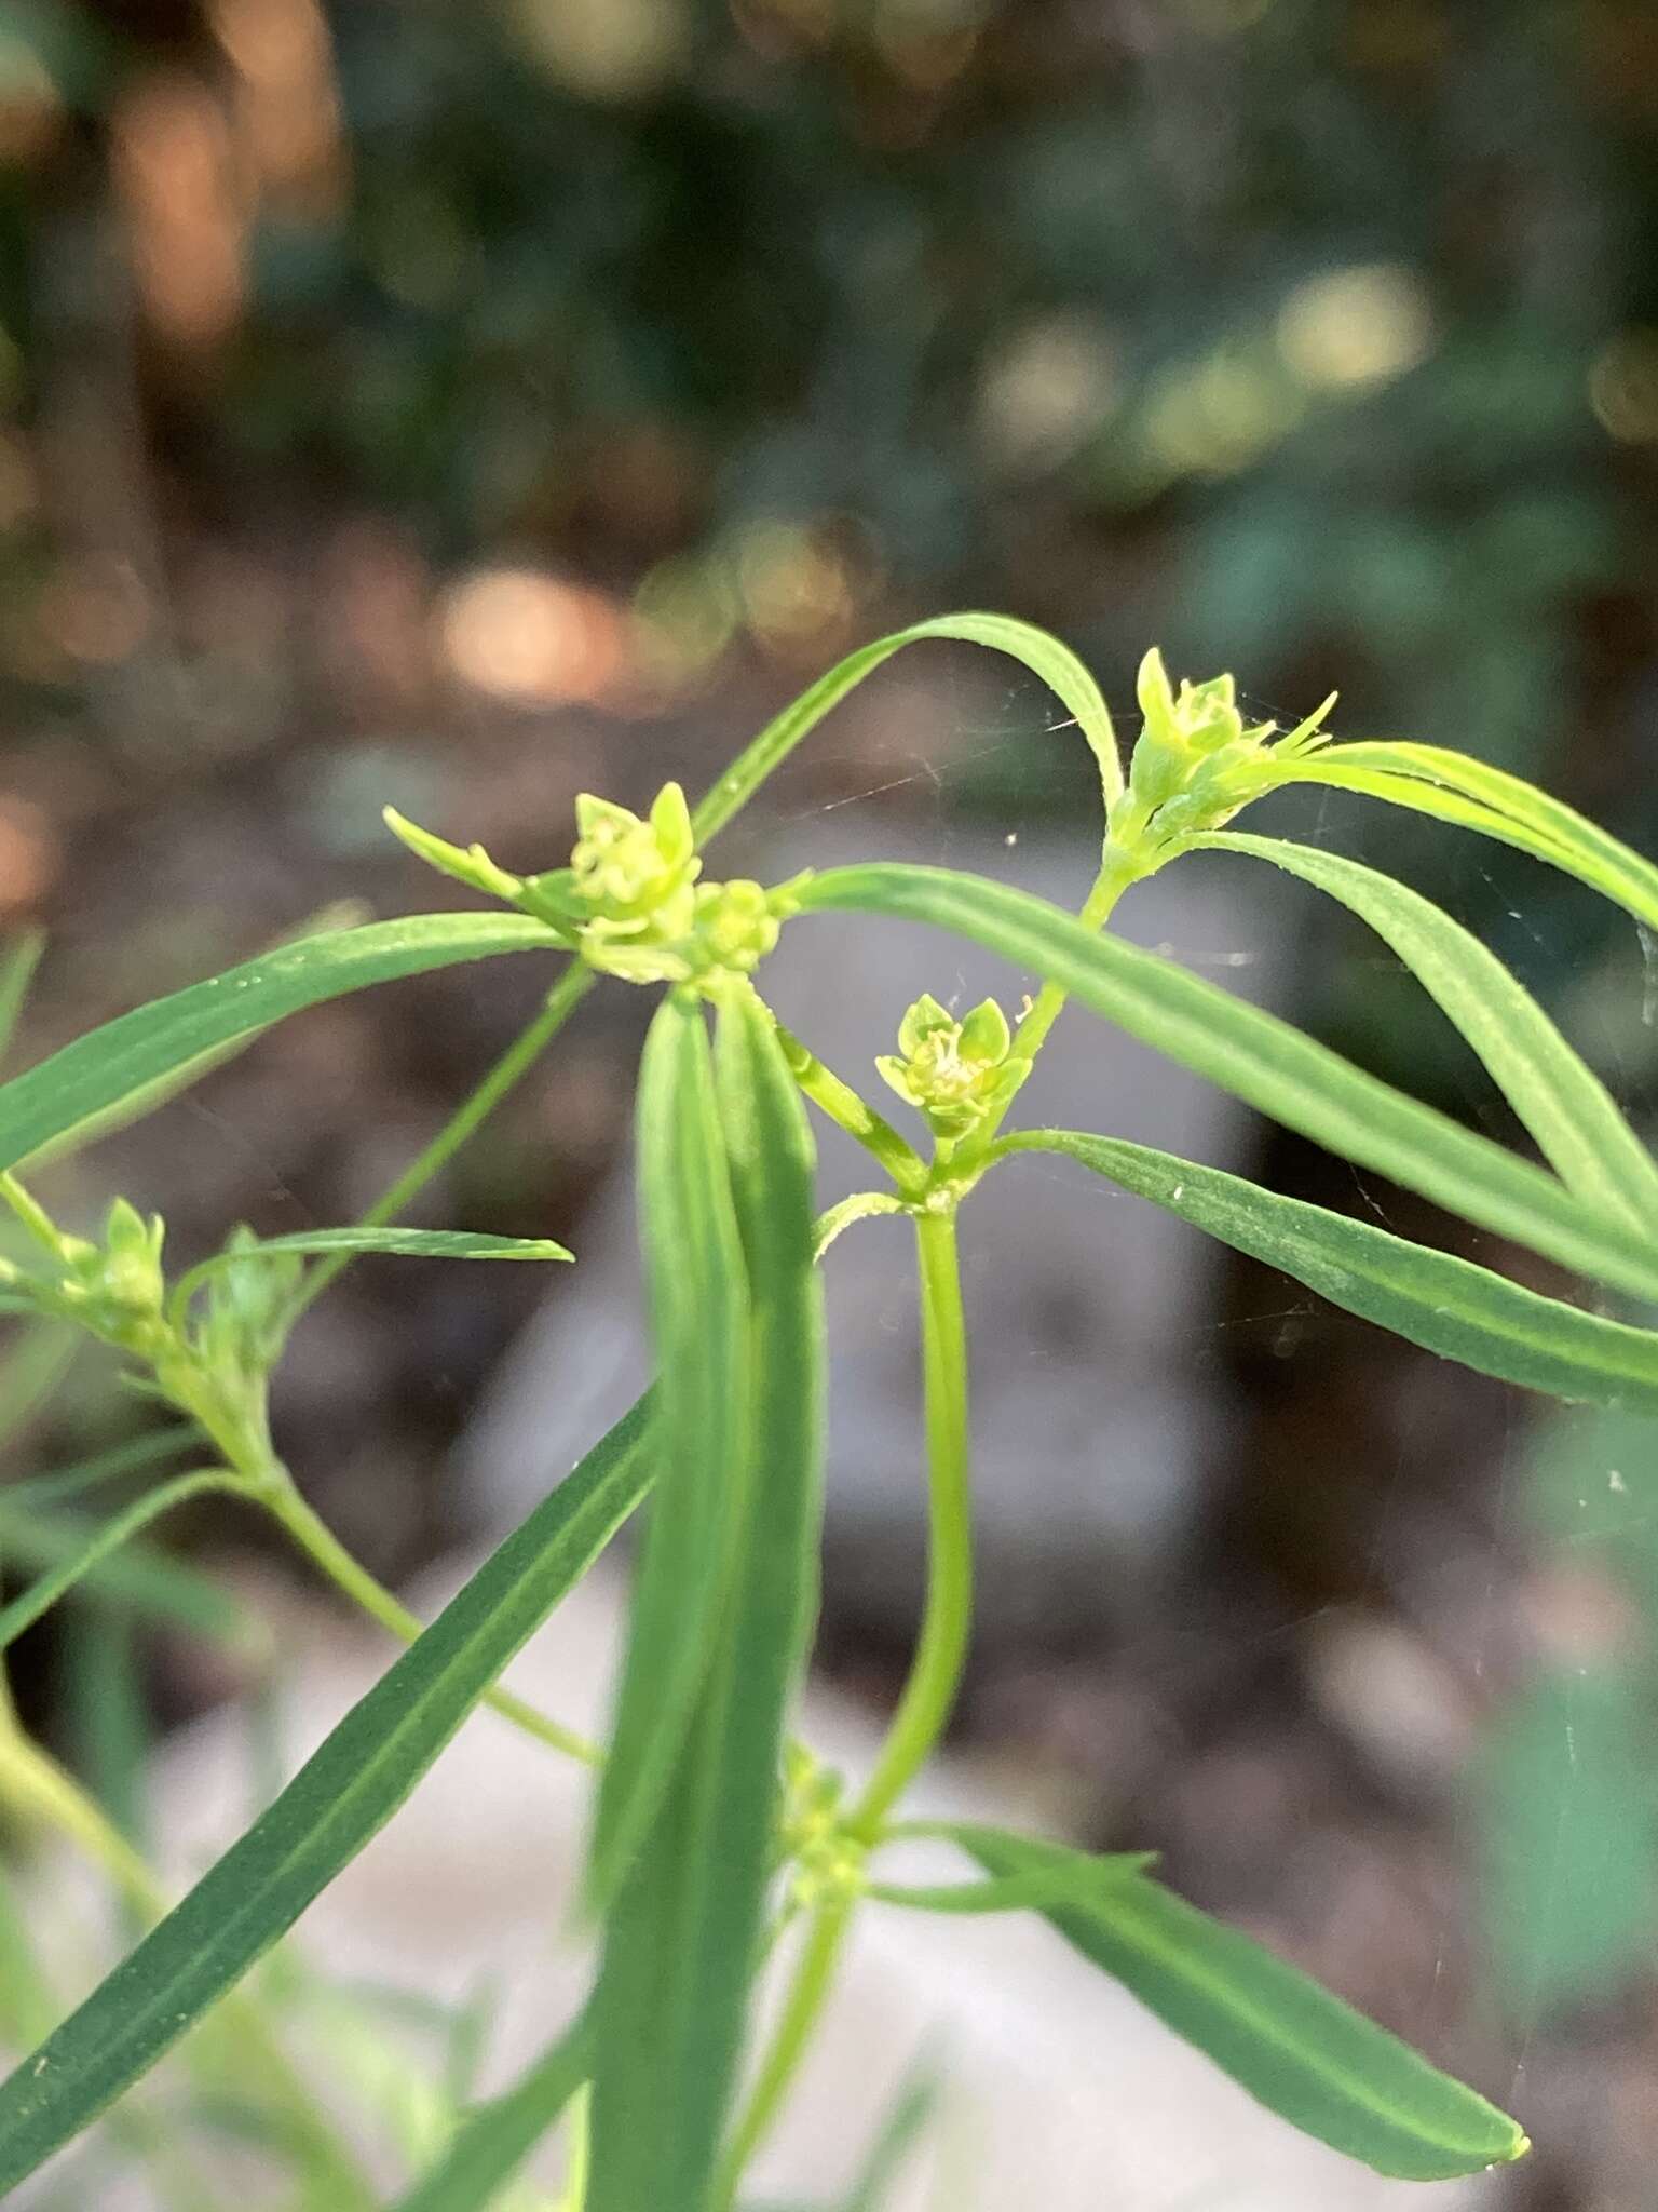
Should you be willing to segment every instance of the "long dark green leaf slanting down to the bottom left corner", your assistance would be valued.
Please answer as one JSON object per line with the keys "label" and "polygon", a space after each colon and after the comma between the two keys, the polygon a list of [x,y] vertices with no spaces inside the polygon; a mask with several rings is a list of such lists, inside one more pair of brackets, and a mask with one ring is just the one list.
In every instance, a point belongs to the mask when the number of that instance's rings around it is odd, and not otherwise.
{"label": "long dark green leaf slanting down to the bottom left corner", "polygon": [[0,2084],[0,2194],[148,2073],[385,1827],[646,1495],[648,1420],[650,1398],[641,1398],[358,1699],[248,1834]]}

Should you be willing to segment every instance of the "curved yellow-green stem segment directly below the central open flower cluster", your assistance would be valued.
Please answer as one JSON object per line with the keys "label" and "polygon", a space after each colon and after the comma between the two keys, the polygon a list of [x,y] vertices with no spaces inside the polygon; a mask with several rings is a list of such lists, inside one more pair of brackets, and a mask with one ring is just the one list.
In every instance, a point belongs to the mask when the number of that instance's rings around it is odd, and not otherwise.
{"label": "curved yellow-green stem segment directly below the central open flower cluster", "polygon": [[915,1217],[926,1389],[926,1610],[915,1661],[875,1772],[847,1834],[873,1843],[944,1732],[973,1630],[973,1493],[968,1482],[968,1367],[955,1212]]}

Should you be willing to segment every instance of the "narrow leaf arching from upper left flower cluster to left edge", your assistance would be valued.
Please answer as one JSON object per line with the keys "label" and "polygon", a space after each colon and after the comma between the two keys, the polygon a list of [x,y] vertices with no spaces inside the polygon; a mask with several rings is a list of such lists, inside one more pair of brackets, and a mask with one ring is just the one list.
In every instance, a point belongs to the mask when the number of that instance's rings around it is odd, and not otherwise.
{"label": "narrow leaf arching from upper left flower cluster to left edge", "polygon": [[86,1135],[146,1086],[303,1006],[462,960],[550,949],[546,927],[522,914],[416,914],[283,945],[122,1013],[0,1084],[0,1168]]}

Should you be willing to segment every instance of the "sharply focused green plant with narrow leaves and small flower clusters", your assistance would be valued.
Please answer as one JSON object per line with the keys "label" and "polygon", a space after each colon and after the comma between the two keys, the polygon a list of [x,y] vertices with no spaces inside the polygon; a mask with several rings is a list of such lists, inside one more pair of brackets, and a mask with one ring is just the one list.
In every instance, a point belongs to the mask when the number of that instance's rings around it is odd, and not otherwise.
{"label": "sharply focused green plant with narrow leaves and small flower clusters", "polygon": [[[955,637],[1041,675],[1094,750],[1105,803],[1096,883],[1079,916],[946,869],[860,865],[765,889],[710,883],[703,854],[765,776],[891,653]],[[977,1827],[924,1827],[904,1794],[955,1699],[973,1621],[968,1347],[957,1214],[1026,1152],[1057,1152],[1207,1234],[1271,1261],[1349,1312],[1556,1398],[1658,1409],[1658,1334],[1523,1290],[1486,1267],[1234,1175],[1105,1135],[1006,1130],[1068,1000],[1222,1084],[1262,1113],[1463,1221],[1631,1301],[1658,1301],[1658,1166],[1543,1011],[1457,922],[1353,860],[1240,834],[1231,818],[1302,781],[1448,818],[1565,869],[1658,925],[1658,869],[1517,779],[1455,752],[1331,743],[1326,710],[1278,734],[1247,726],[1229,677],[1169,686],[1147,655],[1143,732],[1123,776],[1096,686],[1054,639],[993,615],[926,622],[853,653],[787,708],[690,810],[668,785],[648,818],[584,801],[568,867],[513,876],[391,816],[438,869],[506,902],[327,931],[128,1013],[0,1086],[0,1197],[29,1252],[4,1263],[9,1307],[119,1349],[195,1436],[206,1464],[148,1491],[4,1615],[0,1641],[199,1486],[274,1513],[409,1650],[201,1882],[0,2086],[0,2185],[93,2126],[292,1927],[491,1699],[601,1772],[584,1909],[599,1922],[592,1995],[502,2097],[475,2106],[400,2199],[402,2212],[495,2201],[577,2101],[584,2212],[725,2212],[811,2039],[858,1909],[1046,1916],[1258,2099],[1399,2177],[1514,2159],[1521,2130],[1258,1944],[1163,1889],[1141,1856],[1088,1858]],[[1545,1164],[1517,1157],[1344,1062],[1278,1018],[1156,953],[1101,933],[1116,900],[1189,852],[1269,860],[1360,914],[1479,1053]],[[1019,1020],[955,1018],[924,998],[882,1062],[931,1144],[911,1144],[783,1031],[756,989],[765,953],[807,916],[873,911],[970,938],[1041,978]],[[500,953],[566,953],[542,1013],[444,1135],[356,1230],[259,1243],[239,1232],[168,1287],[161,1225],[111,1208],[104,1237],[64,1234],[18,1181],[135,1095],[177,1082],[301,1006]],[[557,1245],[391,1228],[413,1190],[533,1064],[577,1000],[617,975],[661,989],[639,1071],[637,1177],[659,1374],[650,1394],[553,1486],[424,1630],[349,1559],[276,1462],[265,1383],[296,1314],[354,1252],[564,1256]],[[707,1015],[714,1035],[710,1044]],[[802,1099],[849,1130],[880,1188],[814,1221]],[[917,1252],[931,1568],[915,1661],[884,1747],[856,1787],[789,1734],[805,1668],[820,1513],[818,1263],[875,1214]],[[309,1261],[309,1270],[307,1270]],[[495,1690],[511,1655],[650,1498],[615,1725],[604,1752]],[[49,1774],[49,1812],[126,1865],[55,1767],[0,1739],[0,1794]],[[88,1827],[86,1823],[93,1823]],[[77,1827],[80,1823],[80,1827]],[[959,1882],[886,1878],[886,1845],[953,1843]],[[155,1898],[141,1874],[144,1911]],[[555,1900],[548,1900],[553,1907]],[[758,1962],[794,1944],[772,2037],[747,2048]],[[117,2110],[124,2110],[117,2108]],[[347,2152],[316,2201],[360,2205]]]}

